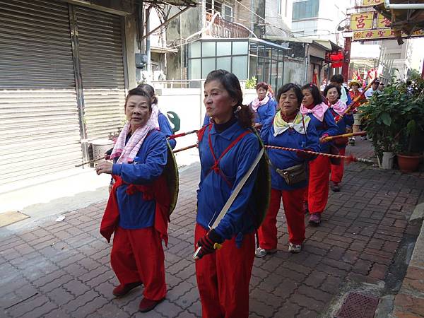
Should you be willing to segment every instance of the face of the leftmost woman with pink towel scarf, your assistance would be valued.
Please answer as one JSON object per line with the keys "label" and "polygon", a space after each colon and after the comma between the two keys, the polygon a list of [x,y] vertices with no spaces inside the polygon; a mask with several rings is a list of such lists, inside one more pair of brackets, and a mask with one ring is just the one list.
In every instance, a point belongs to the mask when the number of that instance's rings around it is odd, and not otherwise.
{"label": "face of the leftmost woman with pink towel scarf", "polygon": [[137,128],[144,126],[151,116],[151,110],[148,107],[149,98],[140,95],[131,95],[126,101],[125,114],[131,130],[134,132]]}

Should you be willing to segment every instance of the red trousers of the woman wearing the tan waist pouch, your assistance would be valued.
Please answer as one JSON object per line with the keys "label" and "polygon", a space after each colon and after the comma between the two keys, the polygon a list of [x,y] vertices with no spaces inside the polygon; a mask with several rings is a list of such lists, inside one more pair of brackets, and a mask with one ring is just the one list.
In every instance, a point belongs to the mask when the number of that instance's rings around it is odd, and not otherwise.
{"label": "red trousers of the woman wearing the tan waist pouch", "polygon": [[305,210],[303,198],[306,187],[292,191],[271,189],[271,201],[264,222],[258,230],[259,246],[263,249],[277,248],[277,213],[283,199],[284,214],[287,220],[288,240],[301,245],[305,240]]}

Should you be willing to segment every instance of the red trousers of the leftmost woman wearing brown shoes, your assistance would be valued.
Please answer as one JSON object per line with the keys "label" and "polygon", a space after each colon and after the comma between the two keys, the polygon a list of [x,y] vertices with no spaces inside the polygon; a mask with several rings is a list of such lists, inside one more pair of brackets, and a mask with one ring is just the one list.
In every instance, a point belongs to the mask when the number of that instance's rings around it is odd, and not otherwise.
{"label": "red trousers of the leftmost woman wearing brown shoes", "polygon": [[114,232],[110,263],[119,283],[142,281],[145,298],[161,300],[165,297],[165,254],[159,233],[153,227],[138,230],[118,227]]}

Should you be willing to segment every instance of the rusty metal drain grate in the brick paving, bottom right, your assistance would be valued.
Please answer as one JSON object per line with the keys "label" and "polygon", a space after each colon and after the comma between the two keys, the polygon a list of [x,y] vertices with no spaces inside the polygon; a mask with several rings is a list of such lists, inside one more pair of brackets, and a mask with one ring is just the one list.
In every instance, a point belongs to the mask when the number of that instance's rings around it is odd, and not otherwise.
{"label": "rusty metal drain grate in the brick paving, bottom right", "polygon": [[372,318],[378,302],[379,298],[375,296],[349,293],[335,318]]}

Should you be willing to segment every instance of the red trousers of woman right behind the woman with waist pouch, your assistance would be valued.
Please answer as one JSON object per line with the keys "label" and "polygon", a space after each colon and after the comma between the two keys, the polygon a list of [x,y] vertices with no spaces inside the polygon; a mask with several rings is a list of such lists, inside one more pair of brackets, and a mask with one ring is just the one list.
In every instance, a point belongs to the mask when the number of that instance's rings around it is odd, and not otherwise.
{"label": "red trousers of woman right behind the woman with waist pouch", "polygon": [[330,158],[319,155],[310,161],[307,204],[310,213],[322,213],[329,199]]}

